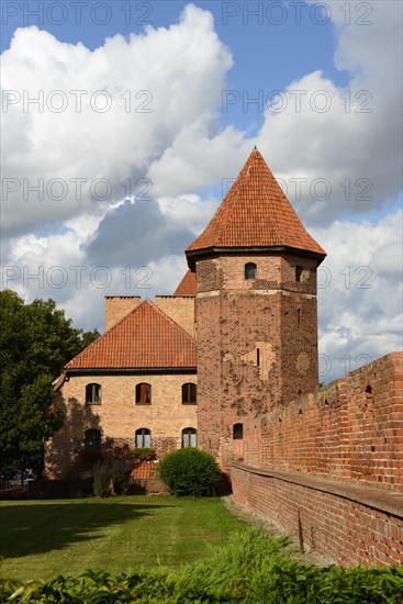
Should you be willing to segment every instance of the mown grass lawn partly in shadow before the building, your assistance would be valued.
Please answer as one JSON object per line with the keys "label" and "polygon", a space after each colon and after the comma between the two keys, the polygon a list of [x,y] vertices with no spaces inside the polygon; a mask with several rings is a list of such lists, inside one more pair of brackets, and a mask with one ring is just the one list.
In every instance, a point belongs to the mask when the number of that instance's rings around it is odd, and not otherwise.
{"label": "mown grass lawn partly in shadow before the building", "polygon": [[160,495],[0,502],[1,575],[48,580],[178,567],[245,526],[220,499]]}

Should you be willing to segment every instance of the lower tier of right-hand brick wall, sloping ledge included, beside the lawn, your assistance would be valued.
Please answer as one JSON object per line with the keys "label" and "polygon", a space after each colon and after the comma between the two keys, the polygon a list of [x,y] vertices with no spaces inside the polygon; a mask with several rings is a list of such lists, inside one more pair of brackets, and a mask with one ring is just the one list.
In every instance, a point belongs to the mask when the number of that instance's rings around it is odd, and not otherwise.
{"label": "lower tier of right-hand brick wall, sloping ledge included, beside the lawn", "polygon": [[305,551],[318,551],[340,566],[403,563],[403,510],[398,493],[379,494],[362,486],[351,491],[324,479],[313,483],[291,472],[264,472],[233,465],[235,502],[260,513],[296,543],[300,515]]}

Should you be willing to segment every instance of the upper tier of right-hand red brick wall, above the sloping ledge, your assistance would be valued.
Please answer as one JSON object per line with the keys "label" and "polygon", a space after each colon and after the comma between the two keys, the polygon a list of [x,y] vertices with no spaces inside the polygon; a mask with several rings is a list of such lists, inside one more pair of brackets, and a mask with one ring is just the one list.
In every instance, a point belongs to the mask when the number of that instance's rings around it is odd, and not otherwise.
{"label": "upper tier of right-hand red brick wall, above the sloping ledge", "polygon": [[245,462],[401,490],[402,362],[392,353],[249,422]]}

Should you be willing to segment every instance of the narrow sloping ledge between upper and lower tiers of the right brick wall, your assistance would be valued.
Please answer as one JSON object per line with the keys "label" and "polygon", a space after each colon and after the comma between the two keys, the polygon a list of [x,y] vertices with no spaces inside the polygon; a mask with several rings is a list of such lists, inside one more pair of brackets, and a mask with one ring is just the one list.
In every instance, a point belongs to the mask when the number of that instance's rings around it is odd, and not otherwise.
{"label": "narrow sloping ledge between upper and lower tiers of the right brick wall", "polygon": [[270,470],[268,468],[262,468],[261,466],[247,466],[246,463],[242,463],[239,461],[234,461],[232,467],[253,474],[276,478],[278,480],[282,480],[283,482],[291,482],[293,484],[306,486],[307,489],[314,489],[315,491],[337,495],[403,519],[402,492],[382,491],[381,489],[374,489],[373,486],[351,484],[350,482],[344,483],[322,477],[320,478],[312,474],[304,474],[302,472]]}

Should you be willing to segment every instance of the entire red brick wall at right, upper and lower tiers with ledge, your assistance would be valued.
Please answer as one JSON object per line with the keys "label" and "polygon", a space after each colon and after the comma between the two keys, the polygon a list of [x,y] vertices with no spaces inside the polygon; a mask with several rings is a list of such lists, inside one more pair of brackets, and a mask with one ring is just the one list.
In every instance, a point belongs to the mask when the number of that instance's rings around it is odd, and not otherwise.
{"label": "entire red brick wall at right, upper and lower tiers with ledge", "polygon": [[392,353],[247,424],[235,501],[294,536],[300,512],[337,563],[403,563],[402,365]]}

